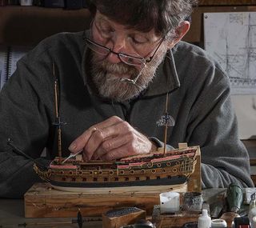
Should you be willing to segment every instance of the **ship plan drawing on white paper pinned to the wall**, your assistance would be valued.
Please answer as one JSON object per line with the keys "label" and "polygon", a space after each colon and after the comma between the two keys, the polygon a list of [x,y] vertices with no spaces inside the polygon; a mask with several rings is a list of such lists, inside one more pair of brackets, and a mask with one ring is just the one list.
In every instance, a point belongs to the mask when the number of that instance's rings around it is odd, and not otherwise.
{"label": "ship plan drawing on white paper pinned to the wall", "polygon": [[232,94],[256,94],[256,12],[205,13],[204,46],[230,77]]}

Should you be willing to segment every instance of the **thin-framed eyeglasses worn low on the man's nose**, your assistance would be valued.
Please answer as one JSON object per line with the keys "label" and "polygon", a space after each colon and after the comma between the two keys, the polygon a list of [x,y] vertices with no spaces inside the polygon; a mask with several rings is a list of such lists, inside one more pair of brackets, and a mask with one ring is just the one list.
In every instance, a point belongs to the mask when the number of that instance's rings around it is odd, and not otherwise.
{"label": "thin-framed eyeglasses worn low on the man's nose", "polygon": [[[156,54],[156,52],[158,51],[158,48],[161,46],[162,41],[163,41],[163,39],[161,40],[161,42],[159,42],[157,48],[154,50],[154,54]],[[90,48],[90,50],[93,50],[97,54],[101,54],[105,58],[110,53],[117,54],[118,58],[120,58],[120,60],[122,62],[124,62],[130,66],[145,66],[147,62],[150,62],[152,60],[152,58],[154,58],[154,54],[152,54],[152,56],[150,56],[149,59],[146,59],[139,55],[134,56],[134,55],[130,55],[130,54],[124,54],[122,52],[119,52],[119,53],[114,52],[110,48],[108,48],[106,46],[102,46],[101,44],[98,44],[97,42],[94,42],[94,41],[90,40],[89,38],[86,38],[86,43],[87,43],[87,46]]]}

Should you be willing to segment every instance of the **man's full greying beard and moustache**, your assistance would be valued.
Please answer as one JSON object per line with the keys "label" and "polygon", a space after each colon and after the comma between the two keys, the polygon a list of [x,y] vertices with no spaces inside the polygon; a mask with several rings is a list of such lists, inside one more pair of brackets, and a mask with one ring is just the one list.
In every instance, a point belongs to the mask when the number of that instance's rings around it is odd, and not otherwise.
{"label": "man's full greying beard and moustache", "polygon": [[92,53],[90,75],[100,96],[110,98],[115,102],[127,102],[137,98],[149,86],[163,58],[163,51],[158,50],[158,55],[156,54],[152,61],[146,64],[137,82],[133,84],[126,80],[121,81],[121,78],[114,73],[128,74],[130,76],[128,78],[134,79],[141,70],[137,70],[134,66],[129,66],[124,62],[112,64],[106,59],[99,60],[98,55]]}

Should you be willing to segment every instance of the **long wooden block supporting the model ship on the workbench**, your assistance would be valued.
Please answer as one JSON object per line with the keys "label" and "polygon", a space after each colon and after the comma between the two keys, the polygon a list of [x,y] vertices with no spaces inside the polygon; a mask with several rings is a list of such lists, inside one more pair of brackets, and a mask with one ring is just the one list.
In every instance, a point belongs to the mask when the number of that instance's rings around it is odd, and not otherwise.
{"label": "long wooden block supporting the model ship on the workbench", "polygon": [[[161,190],[160,190],[161,188]],[[136,206],[151,214],[159,204],[159,194],[170,190],[185,192],[186,185],[177,189],[156,186],[140,188],[98,188],[86,192],[54,190],[49,183],[36,183],[24,196],[26,218],[75,217],[78,208],[83,216],[101,216],[108,210]]]}

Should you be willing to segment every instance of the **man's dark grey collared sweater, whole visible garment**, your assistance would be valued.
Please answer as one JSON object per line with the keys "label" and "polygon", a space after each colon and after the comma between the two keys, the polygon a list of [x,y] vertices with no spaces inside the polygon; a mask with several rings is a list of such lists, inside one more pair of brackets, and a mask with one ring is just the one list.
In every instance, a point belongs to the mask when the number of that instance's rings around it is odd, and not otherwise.
{"label": "man's dark grey collared sweater, whole visible garment", "polygon": [[[82,32],[62,33],[46,38],[18,62],[0,96],[0,197],[20,198],[40,181],[33,162],[15,154],[6,144],[8,138],[41,162],[48,163],[58,153],[52,124],[53,62],[60,82],[60,116],[67,123],[62,127],[64,156],[78,135],[113,115],[162,140],[164,130],[157,122],[169,93],[169,113],[176,123],[168,131],[168,144],[201,146],[202,186],[226,187],[230,182],[253,186],[248,154],[238,140],[229,78],[204,50],[179,42],[166,54],[150,86],[139,98],[126,103],[94,93],[86,76],[89,58]],[[45,147],[46,158],[40,158]]]}

